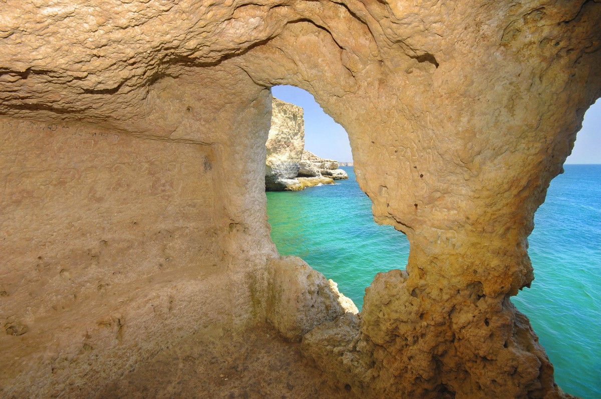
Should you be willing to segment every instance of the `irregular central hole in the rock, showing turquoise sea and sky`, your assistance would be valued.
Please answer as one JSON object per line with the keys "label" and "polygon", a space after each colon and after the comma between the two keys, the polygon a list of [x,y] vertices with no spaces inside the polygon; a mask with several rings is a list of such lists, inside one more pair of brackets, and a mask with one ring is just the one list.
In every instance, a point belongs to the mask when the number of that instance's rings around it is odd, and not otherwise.
{"label": "irregular central hole in the rock, showing turquoise sea and sky", "polygon": [[[355,178],[347,132],[323,112],[327,107],[322,109],[310,93],[299,88],[273,87],[272,94],[282,102],[302,107],[304,117],[294,122],[293,115],[289,115],[290,123],[286,126],[303,123],[304,150],[322,159],[337,161],[338,168],[349,175],[347,180],[334,180],[334,184],[305,187],[301,191],[282,186],[276,191],[278,178],[266,175],[266,187],[273,184],[276,189],[266,192],[272,240],[279,255],[301,257],[313,269],[337,282],[338,290],[361,309],[365,287],[371,284],[377,273],[404,269],[409,256],[409,242],[392,226],[374,222],[371,200],[359,188]],[[272,109],[278,106],[294,109],[293,106],[277,103]],[[290,137],[282,140],[282,145],[292,144],[293,135],[290,133],[286,133]],[[295,167],[301,169],[290,163],[270,164],[270,154],[276,154],[276,148],[269,147],[269,144],[267,140],[267,171],[292,170],[294,173]],[[289,177],[303,177],[296,173]],[[385,190],[382,188],[380,192],[380,198],[385,198]]]}

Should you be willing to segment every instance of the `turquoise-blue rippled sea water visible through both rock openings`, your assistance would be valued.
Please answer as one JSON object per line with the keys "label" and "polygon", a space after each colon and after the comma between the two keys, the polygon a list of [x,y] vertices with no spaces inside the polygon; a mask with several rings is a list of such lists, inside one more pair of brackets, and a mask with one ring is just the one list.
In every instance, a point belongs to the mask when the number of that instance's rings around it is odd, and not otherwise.
{"label": "turquoise-blue rippled sea water visible through both rock openings", "polygon": [[[535,215],[529,237],[532,288],[511,300],[526,314],[564,391],[601,398],[601,165],[565,165]],[[272,239],[297,255],[361,309],[378,272],[404,269],[409,242],[379,226],[371,201],[349,180],[299,192],[267,192]]]}

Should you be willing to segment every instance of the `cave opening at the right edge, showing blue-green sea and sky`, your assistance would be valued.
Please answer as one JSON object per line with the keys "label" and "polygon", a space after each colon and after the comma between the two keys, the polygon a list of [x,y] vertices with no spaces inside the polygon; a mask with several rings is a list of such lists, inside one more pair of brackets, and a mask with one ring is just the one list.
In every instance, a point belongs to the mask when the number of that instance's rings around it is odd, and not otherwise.
{"label": "cave opening at the right edge, showing blue-green sea and sky", "polygon": [[563,174],[551,181],[535,213],[528,237],[532,286],[511,299],[537,332],[558,385],[583,398],[601,396],[595,364],[601,337],[582,328],[596,324],[601,308],[600,128],[597,100],[585,114]]}

